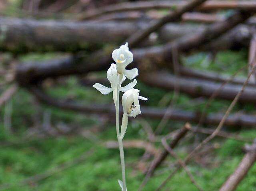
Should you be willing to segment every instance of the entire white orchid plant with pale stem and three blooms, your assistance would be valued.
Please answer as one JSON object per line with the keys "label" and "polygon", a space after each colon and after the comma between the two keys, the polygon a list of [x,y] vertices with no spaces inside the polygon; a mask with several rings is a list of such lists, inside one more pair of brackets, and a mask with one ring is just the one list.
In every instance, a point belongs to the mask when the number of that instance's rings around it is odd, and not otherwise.
{"label": "entire white orchid plant with pale stem and three blooms", "polygon": [[[126,66],[130,64],[133,60],[133,55],[129,51],[128,43],[120,46],[119,49],[115,49],[112,53],[112,58],[116,64],[111,64],[110,68],[107,71],[107,79],[111,84],[111,87],[106,87],[99,83],[93,85],[100,93],[106,95],[110,92],[113,92],[113,100],[116,106],[116,134],[119,144],[121,167],[122,167],[122,180],[118,180],[122,191],[127,191],[126,181],[125,181],[125,165],[124,165],[124,147],[123,147],[123,138],[126,133],[128,125],[128,117],[136,117],[140,114],[140,103],[139,99],[147,100],[139,95],[139,90],[134,89],[137,81],[134,79],[138,75],[138,69],[134,68],[127,70]],[[121,84],[125,81],[126,77],[130,80],[134,79],[128,85],[121,87]],[[124,114],[122,118],[121,131],[119,129],[119,95],[120,91],[124,92],[122,96],[122,106],[124,109]]]}

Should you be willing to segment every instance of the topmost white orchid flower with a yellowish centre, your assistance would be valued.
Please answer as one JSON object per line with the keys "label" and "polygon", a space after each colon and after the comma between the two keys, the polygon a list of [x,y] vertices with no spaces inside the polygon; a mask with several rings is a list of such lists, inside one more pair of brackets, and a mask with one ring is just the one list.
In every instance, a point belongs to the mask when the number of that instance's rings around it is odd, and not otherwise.
{"label": "topmost white orchid flower with a yellowish centre", "polygon": [[129,51],[128,43],[121,45],[119,49],[115,49],[112,53],[112,58],[116,62],[116,70],[119,74],[124,74],[130,80],[138,75],[137,68],[131,70],[125,69],[133,61],[133,55]]}

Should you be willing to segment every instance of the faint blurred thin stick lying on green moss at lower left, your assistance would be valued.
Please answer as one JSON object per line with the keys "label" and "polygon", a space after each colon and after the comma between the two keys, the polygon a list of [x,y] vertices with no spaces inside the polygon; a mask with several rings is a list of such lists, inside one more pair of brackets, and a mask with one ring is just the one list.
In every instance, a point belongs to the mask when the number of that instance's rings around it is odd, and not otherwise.
{"label": "faint blurred thin stick lying on green moss at lower left", "polygon": [[77,164],[83,162],[86,158],[88,158],[90,155],[92,155],[93,152],[94,151],[92,149],[90,149],[89,151],[87,151],[86,153],[82,154],[81,156],[79,156],[78,158],[76,158],[72,161],[64,162],[61,165],[58,165],[57,167],[54,167],[54,168],[49,169],[43,173],[26,178],[22,181],[15,183],[14,185],[13,184],[2,184],[2,185],[0,185],[0,190],[6,190],[6,189],[9,189],[10,187],[14,187],[14,186],[24,186],[27,184],[36,183],[38,181],[46,179],[56,173],[60,173],[61,171],[65,170],[65,169],[68,169],[74,165],[77,165]]}

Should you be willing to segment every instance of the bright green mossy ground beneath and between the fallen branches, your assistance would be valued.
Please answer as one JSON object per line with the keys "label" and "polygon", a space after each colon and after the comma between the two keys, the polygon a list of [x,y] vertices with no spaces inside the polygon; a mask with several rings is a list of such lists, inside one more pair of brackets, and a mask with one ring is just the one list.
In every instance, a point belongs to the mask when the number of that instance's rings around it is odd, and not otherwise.
{"label": "bright green mossy ground beneath and between the fallen branches", "polygon": [[[236,72],[240,67],[246,65],[246,51],[240,52],[226,51],[219,53],[214,62],[205,61],[207,54],[196,54],[184,58],[185,64],[196,69],[220,71],[228,75]],[[32,57],[33,58],[33,57]],[[37,56],[35,56],[38,59]],[[26,59],[26,58],[22,58]],[[31,59],[31,57],[30,57]],[[245,75],[246,70],[240,75]],[[163,91],[157,88],[148,87],[139,83],[138,88],[141,95],[149,98],[144,102],[148,106],[167,106],[173,96],[173,92]],[[91,87],[82,87],[76,77],[70,77],[63,83],[51,86],[48,93],[61,98],[72,98],[81,103],[86,102],[112,102],[111,95],[101,95]],[[196,101],[188,95],[181,94],[178,98],[178,107],[185,110],[198,111],[204,108],[207,99]],[[207,112],[224,112],[230,101],[214,100]],[[243,110],[249,114],[255,114],[255,106],[250,104],[238,104],[234,111]],[[20,89],[12,98],[12,134],[8,134],[4,127],[4,108],[1,110],[0,120],[0,188],[2,184],[10,183],[11,186],[5,191],[120,191],[117,179],[121,179],[121,169],[118,149],[108,149],[101,146],[97,139],[88,140],[80,134],[49,136],[46,139],[34,138],[31,141],[23,140],[28,129],[39,126],[43,123],[44,112],[51,114],[51,124],[65,124],[69,127],[79,127],[89,129],[100,124],[97,116],[87,116],[75,112],[59,110],[54,107],[35,104],[34,98],[26,90]],[[34,118],[38,117],[39,124],[35,124]],[[153,128],[156,128],[159,121],[146,119]],[[182,126],[183,122],[173,122],[164,129],[166,134]],[[225,127],[226,128],[226,127]],[[231,132],[237,132],[241,136],[248,138],[256,137],[256,130],[246,127],[228,128]],[[116,140],[114,124],[108,122],[104,125],[104,130],[96,132],[96,136],[101,141]],[[146,134],[137,122],[129,122],[125,140],[146,139]],[[200,136],[205,138],[205,136]],[[6,143],[13,143],[5,145]],[[193,146],[192,138],[184,139],[175,149],[175,152],[185,158]],[[188,169],[194,175],[198,184],[206,191],[215,191],[222,185],[228,175],[234,171],[244,153],[243,142],[235,140],[225,140],[223,138],[214,139],[211,144],[218,143],[219,147],[211,150],[206,158],[206,165],[192,162]],[[157,146],[160,146],[158,144]],[[90,153],[88,153],[90,151]],[[25,185],[18,185],[20,181],[36,174],[44,173],[68,161],[73,161],[82,154],[88,154],[80,163],[77,163],[63,171],[56,171],[51,176],[40,181],[30,181]],[[144,150],[125,149],[127,185],[129,191],[138,189],[144,175],[137,168]],[[144,191],[154,191],[160,183],[170,174],[172,170],[168,164],[173,163],[172,158],[168,158],[166,163],[157,171],[156,175],[150,179]],[[174,178],[168,182],[168,190],[172,191],[196,191],[196,187],[190,182],[184,170],[180,170]],[[1,189],[0,189],[1,190]],[[252,167],[246,178],[240,183],[238,191],[256,190],[256,165]]]}

